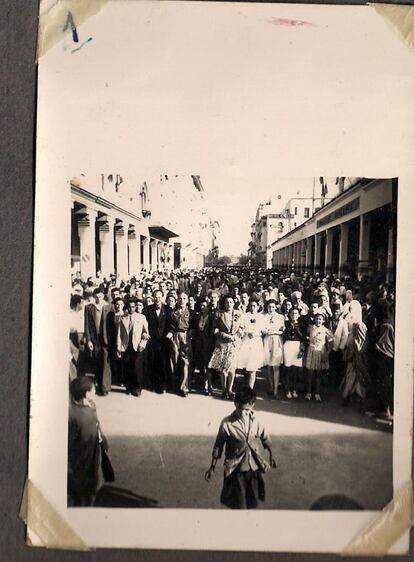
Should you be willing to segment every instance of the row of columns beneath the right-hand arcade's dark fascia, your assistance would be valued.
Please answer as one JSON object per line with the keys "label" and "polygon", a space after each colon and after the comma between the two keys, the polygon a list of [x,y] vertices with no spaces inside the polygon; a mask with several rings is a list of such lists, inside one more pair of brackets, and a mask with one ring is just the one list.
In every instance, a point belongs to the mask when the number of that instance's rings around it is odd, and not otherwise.
{"label": "row of columns beneath the right-hand arcade's dark fascia", "polygon": [[[358,278],[370,272],[371,220],[369,213],[363,214],[359,218]],[[338,275],[342,276],[346,272],[348,262],[349,233],[350,223],[342,223],[340,225],[338,271],[333,271],[334,229],[332,228],[276,250],[273,255],[273,265],[276,268],[282,269],[294,268],[301,273],[313,271],[325,275],[338,273]],[[393,224],[390,223],[388,227],[387,281],[390,281],[394,269],[393,235]],[[321,271],[322,244],[324,240],[325,263],[323,271]]]}

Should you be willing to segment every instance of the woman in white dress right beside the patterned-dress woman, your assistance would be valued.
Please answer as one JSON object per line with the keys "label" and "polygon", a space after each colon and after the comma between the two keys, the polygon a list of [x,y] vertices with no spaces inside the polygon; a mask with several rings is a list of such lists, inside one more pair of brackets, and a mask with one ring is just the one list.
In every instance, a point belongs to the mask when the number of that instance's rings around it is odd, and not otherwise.
{"label": "woman in white dress right beside the patterned-dress woman", "polygon": [[259,312],[259,303],[256,299],[250,299],[244,315],[244,336],[238,362],[238,368],[244,369],[250,388],[254,388],[256,372],[263,367],[263,328],[264,315]]}

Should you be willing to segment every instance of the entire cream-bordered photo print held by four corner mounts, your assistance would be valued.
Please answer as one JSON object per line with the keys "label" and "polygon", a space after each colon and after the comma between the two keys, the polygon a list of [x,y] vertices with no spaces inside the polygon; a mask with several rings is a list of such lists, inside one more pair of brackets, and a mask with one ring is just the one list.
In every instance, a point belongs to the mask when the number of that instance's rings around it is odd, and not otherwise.
{"label": "entire cream-bordered photo print held by four corner mounts", "polygon": [[41,3],[28,543],[408,552],[413,11]]}

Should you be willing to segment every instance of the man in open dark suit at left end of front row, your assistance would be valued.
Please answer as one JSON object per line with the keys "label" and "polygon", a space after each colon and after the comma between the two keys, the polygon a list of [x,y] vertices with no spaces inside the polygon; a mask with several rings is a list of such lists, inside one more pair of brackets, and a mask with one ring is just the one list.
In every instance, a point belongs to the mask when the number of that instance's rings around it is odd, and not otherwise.
{"label": "man in open dark suit at left end of front row", "polygon": [[113,306],[105,301],[101,287],[94,289],[93,296],[95,302],[85,307],[86,349],[95,366],[97,394],[106,396],[111,390],[112,379],[107,317]]}

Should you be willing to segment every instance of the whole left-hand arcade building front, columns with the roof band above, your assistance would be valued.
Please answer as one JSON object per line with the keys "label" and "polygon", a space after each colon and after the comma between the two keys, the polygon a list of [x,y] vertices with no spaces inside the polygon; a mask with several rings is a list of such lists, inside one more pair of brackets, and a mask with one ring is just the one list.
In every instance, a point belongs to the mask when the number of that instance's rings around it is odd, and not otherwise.
{"label": "whole left-hand arcade building front, columns with the roof band above", "polygon": [[81,188],[72,186],[71,193],[71,265],[84,279],[100,272],[126,280],[141,270],[173,268],[174,232]]}

